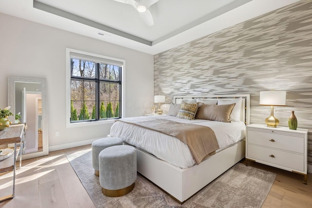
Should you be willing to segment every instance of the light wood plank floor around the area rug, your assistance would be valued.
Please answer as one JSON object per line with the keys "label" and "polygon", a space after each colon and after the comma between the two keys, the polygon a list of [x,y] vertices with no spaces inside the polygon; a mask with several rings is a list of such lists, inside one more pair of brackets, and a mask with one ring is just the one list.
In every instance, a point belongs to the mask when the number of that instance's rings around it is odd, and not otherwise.
{"label": "light wood plank floor around the area rug", "polygon": [[[90,149],[85,145],[50,152],[49,156],[22,161],[17,170],[15,197],[0,203],[0,208],[94,208],[88,193],[71,167],[66,155]],[[244,163],[244,160],[241,162]],[[250,166],[277,173],[271,191],[262,208],[311,208],[312,174],[308,185],[303,184],[303,175],[283,171],[249,161]],[[0,177],[0,197],[8,187],[12,173]],[[8,188],[6,188],[8,187]]]}

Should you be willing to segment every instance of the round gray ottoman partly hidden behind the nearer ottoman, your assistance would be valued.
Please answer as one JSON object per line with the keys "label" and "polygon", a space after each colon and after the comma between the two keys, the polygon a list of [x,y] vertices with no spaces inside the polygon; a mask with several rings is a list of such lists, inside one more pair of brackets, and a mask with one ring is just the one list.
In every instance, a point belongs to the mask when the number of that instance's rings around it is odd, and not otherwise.
{"label": "round gray ottoman partly hidden behind the nearer ottoman", "polygon": [[97,139],[92,142],[92,166],[94,168],[94,174],[99,175],[98,168],[98,154],[107,147],[122,145],[122,139],[117,137],[108,137]]}

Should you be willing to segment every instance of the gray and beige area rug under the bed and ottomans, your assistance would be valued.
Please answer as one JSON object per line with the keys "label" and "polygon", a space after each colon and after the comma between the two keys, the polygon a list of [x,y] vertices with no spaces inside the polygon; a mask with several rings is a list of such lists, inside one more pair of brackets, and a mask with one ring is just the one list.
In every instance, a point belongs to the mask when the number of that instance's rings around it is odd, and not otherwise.
{"label": "gray and beige area rug under the bed and ottomans", "polygon": [[237,163],[180,205],[142,175],[121,197],[102,194],[92,168],[91,149],[67,156],[97,208],[260,208],[276,174]]}

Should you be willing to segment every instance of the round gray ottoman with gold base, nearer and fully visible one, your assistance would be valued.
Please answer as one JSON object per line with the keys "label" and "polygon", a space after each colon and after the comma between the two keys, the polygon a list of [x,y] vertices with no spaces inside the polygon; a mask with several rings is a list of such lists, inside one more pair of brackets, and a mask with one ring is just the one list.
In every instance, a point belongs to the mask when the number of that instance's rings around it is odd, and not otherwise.
{"label": "round gray ottoman with gold base, nearer and fully visible one", "polygon": [[99,183],[109,197],[132,191],[137,179],[137,150],[128,145],[108,147],[99,153]]}

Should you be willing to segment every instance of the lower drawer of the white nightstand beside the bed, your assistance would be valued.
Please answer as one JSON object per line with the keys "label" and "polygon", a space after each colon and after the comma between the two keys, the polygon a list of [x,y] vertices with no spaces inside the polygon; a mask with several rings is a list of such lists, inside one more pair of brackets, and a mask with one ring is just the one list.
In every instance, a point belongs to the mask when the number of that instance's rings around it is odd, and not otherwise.
{"label": "lower drawer of the white nightstand beside the bed", "polygon": [[247,157],[283,166],[295,171],[304,171],[304,155],[248,144]]}

